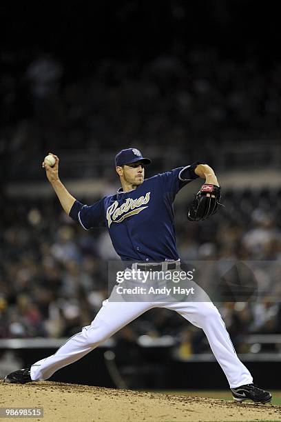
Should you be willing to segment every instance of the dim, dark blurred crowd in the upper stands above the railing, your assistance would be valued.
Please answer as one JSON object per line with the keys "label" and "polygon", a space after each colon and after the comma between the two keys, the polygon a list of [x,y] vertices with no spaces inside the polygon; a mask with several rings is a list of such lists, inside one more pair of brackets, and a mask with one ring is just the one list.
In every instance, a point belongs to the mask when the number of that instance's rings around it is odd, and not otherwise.
{"label": "dim, dark blurred crowd in the upper stands above the railing", "polygon": [[[87,156],[90,148],[112,154],[119,145],[160,145],[175,161],[183,151],[196,159],[202,147],[214,161],[225,141],[280,137],[278,61],[262,64],[250,54],[239,61],[195,48],[143,63],[103,59],[81,79],[45,52],[30,60],[24,51],[4,51],[0,61],[0,147],[13,158],[20,151],[44,157],[79,148]],[[14,159],[17,165],[6,171],[17,179],[23,154]]]}

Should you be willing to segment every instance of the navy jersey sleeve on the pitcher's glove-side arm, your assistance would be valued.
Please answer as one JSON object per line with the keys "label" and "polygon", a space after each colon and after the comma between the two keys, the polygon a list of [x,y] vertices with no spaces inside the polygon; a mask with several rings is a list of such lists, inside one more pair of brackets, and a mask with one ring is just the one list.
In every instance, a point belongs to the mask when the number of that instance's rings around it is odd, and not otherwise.
{"label": "navy jersey sleeve on the pitcher's glove-side arm", "polygon": [[169,172],[159,174],[160,183],[164,192],[175,197],[178,191],[191,181],[198,179],[198,175],[194,172],[196,166],[202,164],[199,161],[186,165],[185,167],[174,168]]}

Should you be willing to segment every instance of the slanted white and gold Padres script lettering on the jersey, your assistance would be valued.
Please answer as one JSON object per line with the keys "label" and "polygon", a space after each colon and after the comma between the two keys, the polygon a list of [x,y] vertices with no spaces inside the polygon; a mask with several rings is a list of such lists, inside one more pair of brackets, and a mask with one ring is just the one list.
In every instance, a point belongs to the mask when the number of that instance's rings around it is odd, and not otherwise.
{"label": "slanted white and gold Padres script lettering on the jersey", "polygon": [[[138,214],[138,212],[145,210],[147,206],[143,207],[141,205],[145,205],[146,203],[148,203],[149,199],[150,192],[147,192],[145,197],[139,197],[138,199],[127,198],[126,202],[123,203],[121,207],[118,207],[118,201],[114,201],[114,203],[112,203],[112,205],[110,205],[110,207],[108,207],[106,210],[108,228],[110,228],[111,223],[121,223],[121,221],[127,219],[127,217],[131,217],[131,215]],[[118,217],[121,218],[118,219]]]}

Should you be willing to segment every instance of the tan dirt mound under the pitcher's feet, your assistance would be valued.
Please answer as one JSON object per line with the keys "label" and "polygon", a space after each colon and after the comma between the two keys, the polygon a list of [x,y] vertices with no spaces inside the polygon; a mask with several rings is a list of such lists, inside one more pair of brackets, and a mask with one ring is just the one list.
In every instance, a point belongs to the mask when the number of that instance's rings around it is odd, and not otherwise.
{"label": "tan dirt mound under the pitcher's feet", "polygon": [[[0,383],[0,408],[40,408],[21,421],[280,421],[281,406],[39,381]],[[6,419],[3,419],[6,420]],[[8,419],[7,419],[8,420]]]}

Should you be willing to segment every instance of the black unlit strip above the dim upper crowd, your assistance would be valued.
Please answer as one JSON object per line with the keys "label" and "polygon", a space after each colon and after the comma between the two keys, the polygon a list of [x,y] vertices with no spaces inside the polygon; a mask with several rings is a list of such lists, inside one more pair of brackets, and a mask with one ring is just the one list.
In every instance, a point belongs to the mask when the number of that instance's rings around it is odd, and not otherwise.
{"label": "black unlit strip above the dim upper crowd", "polygon": [[96,62],[136,61],[160,54],[184,59],[196,46],[223,57],[256,57],[265,67],[280,58],[278,2],[253,0],[77,1],[1,5],[2,46],[18,54],[21,72],[39,51],[58,57],[66,78],[87,76]]}

